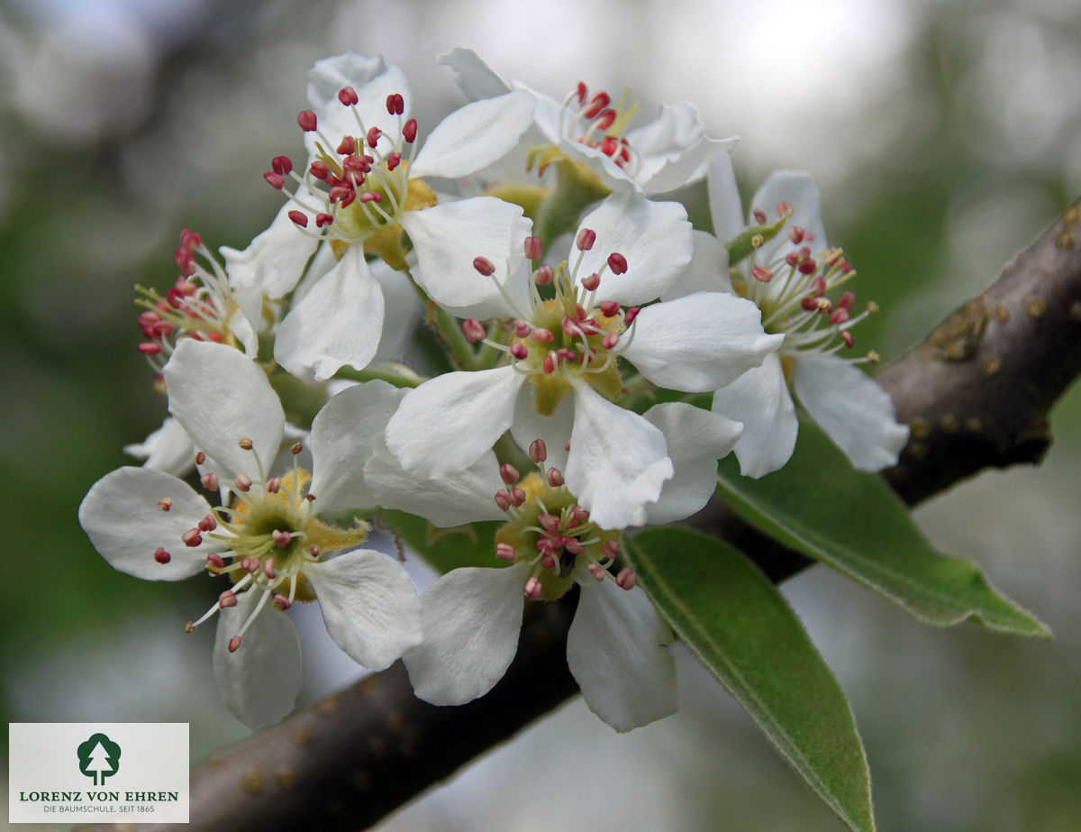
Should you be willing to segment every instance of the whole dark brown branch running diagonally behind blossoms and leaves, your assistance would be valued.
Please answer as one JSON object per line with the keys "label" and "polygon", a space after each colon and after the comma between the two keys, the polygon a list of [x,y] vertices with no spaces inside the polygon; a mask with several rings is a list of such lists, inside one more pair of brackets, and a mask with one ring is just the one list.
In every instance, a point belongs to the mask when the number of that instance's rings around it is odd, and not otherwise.
{"label": "whole dark brown branch running diagonally behind blossoms and leaves", "polygon": [[[1047,410],[1081,372],[1081,208],[879,374],[912,437],[883,476],[909,504],[986,466],[1037,462]],[[695,524],[780,581],[808,562],[718,506]],[[569,604],[537,607],[518,657],[461,708],[416,699],[400,663],[197,768],[189,829],[363,829],[570,698]],[[156,827],[141,827],[156,829]],[[101,829],[94,827],[93,829]]]}

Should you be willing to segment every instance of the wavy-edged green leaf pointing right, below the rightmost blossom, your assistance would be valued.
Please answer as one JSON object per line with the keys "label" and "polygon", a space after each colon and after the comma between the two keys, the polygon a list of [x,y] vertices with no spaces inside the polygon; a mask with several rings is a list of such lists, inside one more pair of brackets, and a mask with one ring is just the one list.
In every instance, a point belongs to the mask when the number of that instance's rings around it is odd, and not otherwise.
{"label": "wavy-edged green leaf pointing right, below the rightmost blossom", "polygon": [[819,427],[800,423],[796,452],[760,479],[721,460],[718,494],[782,543],[870,587],[930,624],[973,619],[991,630],[1051,636],[988,583],[975,564],[940,555],[876,474],[855,471]]}

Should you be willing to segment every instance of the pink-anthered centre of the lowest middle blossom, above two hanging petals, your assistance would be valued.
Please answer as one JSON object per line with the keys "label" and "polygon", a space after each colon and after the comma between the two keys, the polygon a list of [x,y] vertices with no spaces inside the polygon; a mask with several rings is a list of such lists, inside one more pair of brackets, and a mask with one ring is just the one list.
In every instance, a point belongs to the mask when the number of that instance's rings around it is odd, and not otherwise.
{"label": "pink-anthered centre of the lowest middle blossom, above two hanging petals", "polygon": [[544,465],[546,457],[544,441],[536,439],[530,445],[530,459],[539,473],[523,479],[513,465],[499,468],[507,488],[496,493],[495,502],[508,520],[495,533],[496,557],[529,568],[525,595],[530,598],[553,600],[574,583],[605,578],[631,589],[637,577],[629,568],[615,577],[608,571],[619,552],[619,532],[601,529],[589,519],[560,471]]}

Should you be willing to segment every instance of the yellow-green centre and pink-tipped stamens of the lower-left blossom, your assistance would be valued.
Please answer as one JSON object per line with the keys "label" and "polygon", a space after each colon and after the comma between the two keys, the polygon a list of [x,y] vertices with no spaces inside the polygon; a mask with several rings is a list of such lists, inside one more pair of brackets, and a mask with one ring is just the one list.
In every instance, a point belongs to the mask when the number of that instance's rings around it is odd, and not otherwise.
{"label": "yellow-green centre and pink-tipped stamens of the lower-left blossom", "polygon": [[[240,447],[253,451],[251,439],[241,439]],[[186,625],[187,632],[192,632],[219,609],[235,607],[239,593],[254,590],[262,593],[246,621],[230,638],[230,652],[240,647],[241,636],[268,600],[276,609],[285,610],[294,600],[316,599],[304,577],[305,566],[318,562],[326,552],[357,546],[368,534],[368,525],[362,521],[352,529],[338,529],[312,516],[316,498],[308,491],[311,474],[297,463],[297,454],[303,450],[301,444],[291,450],[293,470],[283,477],[270,479],[264,476],[262,463],[253,451],[257,478],[237,474],[227,500],[181,536],[182,542],[192,547],[202,544],[204,538],[213,540],[217,545],[206,556],[206,570],[212,576],[228,576],[232,581],[217,603],[198,621]],[[205,459],[200,452],[196,463],[201,465]],[[204,474],[201,481],[208,491],[218,492],[217,474]],[[169,511],[171,501],[166,498],[158,505]],[[170,554],[159,549],[155,558],[169,563]]]}

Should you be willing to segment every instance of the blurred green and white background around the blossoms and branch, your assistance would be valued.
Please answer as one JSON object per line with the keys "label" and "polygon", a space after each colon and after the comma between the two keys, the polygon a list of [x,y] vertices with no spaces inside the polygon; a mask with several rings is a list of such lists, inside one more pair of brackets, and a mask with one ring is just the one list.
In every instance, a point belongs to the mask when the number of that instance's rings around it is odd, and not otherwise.
{"label": "blurred green and white background around the blossoms and branch", "polygon": [[[214,584],[112,571],[76,507],[164,413],[132,287],[171,283],[183,227],[243,248],[269,222],[261,174],[301,149],[313,61],[384,53],[428,126],[462,103],[435,63],[454,45],[552,95],[631,87],[646,118],[697,103],[743,137],[748,195],[814,174],[889,360],[1081,193],[1079,43],[1076,0],[0,3],[0,722],[189,722],[195,757],[245,735],[210,631],[182,632]],[[700,187],[678,197],[706,219]],[[1081,829],[1081,391],[1052,427],[1040,468],[916,516],[1053,643],[931,630],[824,568],[784,587],[851,698],[884,832]],[[302,618],[310,701],[358,671]],[[381,829],[839,829],[678,652],[677,716],[617,736],[572,702]]]}

